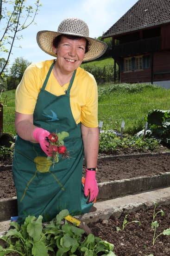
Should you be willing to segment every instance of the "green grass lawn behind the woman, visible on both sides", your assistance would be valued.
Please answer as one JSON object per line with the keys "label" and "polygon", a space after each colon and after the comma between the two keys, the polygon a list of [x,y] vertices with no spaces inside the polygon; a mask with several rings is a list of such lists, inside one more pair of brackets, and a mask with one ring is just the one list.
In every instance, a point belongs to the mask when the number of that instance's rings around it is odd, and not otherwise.
{"label": "green grass lawn behind the woman, visible on both sides", "polygon": [[[98,86],[99,111],[98,119],[103,121],[106,130],[121,130],[125,121],[124,133],[134,135],[145,126],[144,117],[150,109],[170,108],[170,90],[152,85],[113,84]],[[0,101],[3,108],[3,132],[15,135],[14,128],[14,95],[15,90],[6,91]]]}

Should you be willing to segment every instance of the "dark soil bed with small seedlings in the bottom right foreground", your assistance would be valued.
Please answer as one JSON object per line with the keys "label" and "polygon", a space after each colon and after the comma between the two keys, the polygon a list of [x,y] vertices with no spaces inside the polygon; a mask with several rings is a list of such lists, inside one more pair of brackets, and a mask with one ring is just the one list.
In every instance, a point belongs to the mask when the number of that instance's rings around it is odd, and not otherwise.
{"label": "dark soil bed with small seedlings in the bottom right foreground", "polygon": [[[154,221],[159,223],[156,229],[156,236],[165,229],[170,228],[170,205],[157,206],[156,212],[162,209],[165,213],[161,216],[159,213]],[[137,212],[128,214],[127,221],[140,221],[139,223],[127,224],[122,231],[116,231],[119,227],[122,229],[125,213],[118,219],[109,219],[102,222],[89,223],[94,236],[99,236],[103,240],[114,244],[114,253],[116,256],[168,256],[170,255],[170,236],[159,236],[155,244],[152,245],[154,229],[151,228],[153,221],[153,208],[140,209]]]}

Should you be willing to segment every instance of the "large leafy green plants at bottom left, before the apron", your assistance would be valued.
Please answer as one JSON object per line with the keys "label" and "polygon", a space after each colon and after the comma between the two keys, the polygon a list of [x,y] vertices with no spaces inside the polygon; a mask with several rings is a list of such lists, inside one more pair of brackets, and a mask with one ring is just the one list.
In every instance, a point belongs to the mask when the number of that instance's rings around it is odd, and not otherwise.
{"label": "large leafy green plants at bottom left, before the apron", "polygon": [[94,237],[85,236],[83,229],[69,224],[64,217],[67,209],[62,210],[51,222],[42,224],[42,216],[28,216],[24,224],[11,222],[10,229],[0,239],[5,242],[5,248],[0,246],[0,256],[17,253],[21,256],[97,256],[113,253],[114,245]]}

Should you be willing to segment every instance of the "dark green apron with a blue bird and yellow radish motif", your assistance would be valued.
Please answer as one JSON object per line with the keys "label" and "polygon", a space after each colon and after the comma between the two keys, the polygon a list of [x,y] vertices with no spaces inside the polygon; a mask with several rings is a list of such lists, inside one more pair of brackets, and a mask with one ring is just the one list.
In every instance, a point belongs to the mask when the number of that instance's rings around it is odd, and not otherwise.
{"label": "dark green apron with a blue bird and yellow radish motif", "polygon": [[[34,110],[34,125],[51,132],[66,131],[69,137],[64,145],[69,158],[53,164],[39,143],[25,141],[17,135],[13,157],[13,179],[17,191],[18,222],[28,215],[43,216],[50,221],[62,210],[68,209],[72,216],[89,212],[93,202],[87,204],[82,185],[83,144],[80,123],[76,124],[70,108],[70,89],[76,70],[70,81],[67,94],[56,96],[45,90],[52,63],[38,94]],[[55,85],[54,85],[55,86]]]}

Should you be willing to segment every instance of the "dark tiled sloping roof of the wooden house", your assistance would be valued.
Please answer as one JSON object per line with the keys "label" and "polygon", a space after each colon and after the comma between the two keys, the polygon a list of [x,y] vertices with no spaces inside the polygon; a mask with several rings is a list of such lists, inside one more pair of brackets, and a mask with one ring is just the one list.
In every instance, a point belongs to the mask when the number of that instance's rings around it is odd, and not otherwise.
{"label": "dark tiled sloping roof of the wooden house", "polygon": [[170,0],[138,0],[103,38],[170,23]]}

